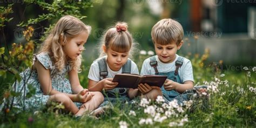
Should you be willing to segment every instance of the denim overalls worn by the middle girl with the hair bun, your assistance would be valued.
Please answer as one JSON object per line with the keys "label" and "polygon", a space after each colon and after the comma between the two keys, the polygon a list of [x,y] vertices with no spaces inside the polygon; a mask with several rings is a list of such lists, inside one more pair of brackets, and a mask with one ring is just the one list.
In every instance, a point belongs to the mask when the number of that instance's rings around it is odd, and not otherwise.
{"label": "denim overalls worn by the middle girl with the hair bun", "polygon": [[[100,80],[107,78],[107,63],[106,57],[102,57],[97,60],[99,66],[99,76]],[[122,73],[131,73],[131,60],[128,59],[127,62],[122,66]],[[100,107],[117,102],[128,102],[130,100],[128,96],[128,89],[126,88],[114,88],[112,90],[102,91],[104,96],[104,102],[100,104]]]}

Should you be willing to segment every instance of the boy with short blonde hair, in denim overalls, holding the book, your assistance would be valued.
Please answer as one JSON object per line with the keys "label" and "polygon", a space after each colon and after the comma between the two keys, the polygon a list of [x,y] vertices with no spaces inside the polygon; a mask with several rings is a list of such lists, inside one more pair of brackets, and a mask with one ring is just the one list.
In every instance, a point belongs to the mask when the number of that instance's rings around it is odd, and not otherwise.
{"label": "boy with short blonde hair, in denim overalls, holding the book", "polygon": [[[164,99],[170,102],[174,99],[179,104],[190,100],[194,93],[206,92],[207,86],[193,88],[194,78],[190,60],[177,55],[177,50],[183,45],[183,28],[173,19],[161,19],[152,28],[151,36],[156,50],[156,56],[144,60],[141,75],[168,76],[161,87]],[[150,91],[151,86],[141,84],[144,91]]]}

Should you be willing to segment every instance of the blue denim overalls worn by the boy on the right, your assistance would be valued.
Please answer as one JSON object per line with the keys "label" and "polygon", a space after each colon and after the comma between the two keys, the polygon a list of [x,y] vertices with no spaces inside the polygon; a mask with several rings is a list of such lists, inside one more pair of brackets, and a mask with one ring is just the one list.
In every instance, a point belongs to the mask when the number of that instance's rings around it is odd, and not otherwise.
{"label": "blue denim overalls worn by the boy on the right", "polygon": [[[171,72],[158,72],[156,56],[150,57],[150,65],[154,68],[154,71],[156,72],[155,75],[167,76],[167,79],[170,79],[170,80],[173,80],[174,82],[183,84],[181,82],[181,78],[178,73],[179,68],[183,64],[183,60],[184,60],[184,58],[179,56],[177,61],[175,62],[176,70],[171,71]],[[184,101],[192,99],[194,93],[197,93],[196,89],[199,89],[200,87],[207,88],[207,86],[196,86],[193,89],[186,90],[185,92],[180,94],[176,90],[167,91],[164,89],[164,86],[162,86],[161,91],[162,91],[164,99],[167,103],[171,102],[174,99],[177,99],[179,104],[183,104]]]}

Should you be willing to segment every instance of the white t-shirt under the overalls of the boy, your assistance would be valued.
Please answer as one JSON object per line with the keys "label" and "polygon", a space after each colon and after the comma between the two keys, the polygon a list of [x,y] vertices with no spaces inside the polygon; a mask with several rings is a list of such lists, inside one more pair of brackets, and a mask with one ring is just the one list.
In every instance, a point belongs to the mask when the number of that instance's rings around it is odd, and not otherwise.
{"label": "white t-shirt under the overalls of the boy", "polygon": [[[158,72],[167,73],[176,70],[175,62],[178,59],[179,55],[176,55],[175,60],[172,63],[163,63],[160,62],[158,56],[156,55],[157,60],[157,70]],[[155,75],[154,68],[150,65],[150,58],[144,60],[142,65],[142,71],[140,75]],[[189,59],[184,57],[183,65],[178,70],[181,82],[184,83],[187,80],[194,82],[192,64]]]}

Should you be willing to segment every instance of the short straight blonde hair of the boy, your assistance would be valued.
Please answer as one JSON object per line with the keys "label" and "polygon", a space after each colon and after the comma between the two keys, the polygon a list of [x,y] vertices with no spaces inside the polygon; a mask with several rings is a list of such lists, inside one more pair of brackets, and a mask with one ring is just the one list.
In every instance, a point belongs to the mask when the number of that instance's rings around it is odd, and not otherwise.
{"label": "short straight blonde hair of the boy", "polygon": [[157,22],[151,31],[153,43],[167,45],[175,42],[180,44],[184,36],[183,28],[179,22],[167,18]]}

